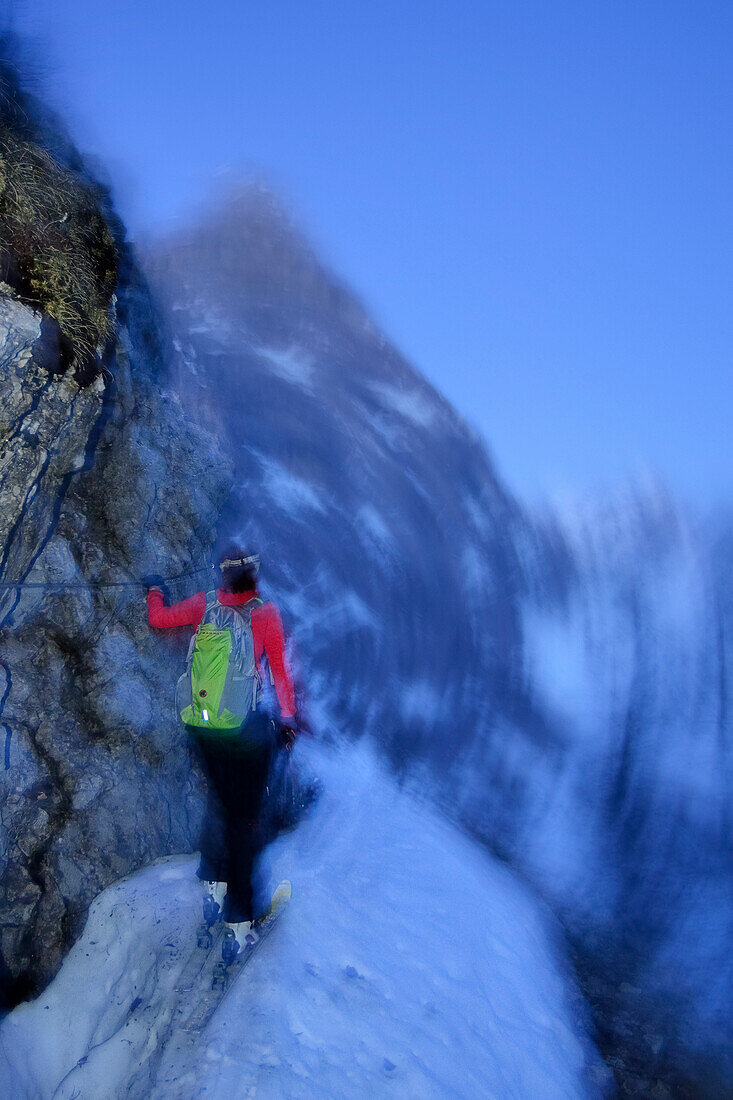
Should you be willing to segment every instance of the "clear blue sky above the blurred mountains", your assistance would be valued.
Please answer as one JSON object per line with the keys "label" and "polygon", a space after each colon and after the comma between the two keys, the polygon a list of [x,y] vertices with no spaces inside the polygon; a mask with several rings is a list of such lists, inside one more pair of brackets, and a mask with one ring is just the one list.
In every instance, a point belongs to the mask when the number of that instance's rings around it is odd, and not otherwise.
{"label": "clear blue sky above the blurred mountains", "polygon": [[132,235],[262,169],[529,498],[733,488],[733,6],[36,0]]}

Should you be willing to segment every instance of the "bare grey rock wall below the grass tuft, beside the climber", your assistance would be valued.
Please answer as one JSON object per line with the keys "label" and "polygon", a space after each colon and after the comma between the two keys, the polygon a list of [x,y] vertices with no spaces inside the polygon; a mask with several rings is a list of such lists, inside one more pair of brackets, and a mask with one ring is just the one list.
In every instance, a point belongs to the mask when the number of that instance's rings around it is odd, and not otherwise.
{"label": "bare grey rock wall below the grass tuft, beside the climber", "polygon": [[6,1003],[55,972],[100,889],[196,840],[183,641],[152,637],[134,582],[206,569],[229,469],[166,388],[129,257],[118,294],[107,382],[87,388],[47,319],[0,298]]}

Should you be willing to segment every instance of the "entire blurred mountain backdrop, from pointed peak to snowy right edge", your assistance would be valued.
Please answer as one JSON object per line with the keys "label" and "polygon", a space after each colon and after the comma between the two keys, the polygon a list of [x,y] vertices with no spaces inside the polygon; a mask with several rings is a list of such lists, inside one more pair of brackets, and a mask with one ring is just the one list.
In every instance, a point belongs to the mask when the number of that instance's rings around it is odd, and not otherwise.
{"label": "entire blurred mountain backdrop, from pointed peak to snowy right edge", "polygon": [[654,487],[524,514],[266,189],[147,268],[183,400],[236,463],[222,526],[263,553],[318,729],[372,734],[530,877],[630,1087],[726,1087],[720,554],[713,573]]}

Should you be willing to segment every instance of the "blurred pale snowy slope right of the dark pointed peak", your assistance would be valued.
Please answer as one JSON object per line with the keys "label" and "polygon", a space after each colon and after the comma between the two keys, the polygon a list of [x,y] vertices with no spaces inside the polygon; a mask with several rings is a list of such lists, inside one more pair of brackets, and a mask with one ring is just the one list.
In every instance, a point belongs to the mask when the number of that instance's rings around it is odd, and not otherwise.
{"label": "blurred pale snowy slope right of the dark pointed peak", "polygon": [[[546,529],[571,572],[555,588],[546,564],[533,562],[532,541],[518,543],[532,579],[521,607],[522,659],[557,747],[500,732],[500,762],[488,743],[477,745],[473,773],[491,767],[501,774],[517,864],[606,974],[615,972],[614,943],[635,954],[633,987],[620,982],[606,1016],[622,1042],[627,1021],[639,1018],[633,990],[643,990],[656,1000],[654,1031],[665,1034],[668,1064],[692,1080],[721,1067],[730,1082],[724,588],[693,520],[654,490],[566,505]],[[469,788],[471,770],[463,774]],[[488,802],[474,787],[464,795],[466,820],[492,835],[501,799]],[[639,1050],[649,1067],[657,1064],[646,1038]]]}

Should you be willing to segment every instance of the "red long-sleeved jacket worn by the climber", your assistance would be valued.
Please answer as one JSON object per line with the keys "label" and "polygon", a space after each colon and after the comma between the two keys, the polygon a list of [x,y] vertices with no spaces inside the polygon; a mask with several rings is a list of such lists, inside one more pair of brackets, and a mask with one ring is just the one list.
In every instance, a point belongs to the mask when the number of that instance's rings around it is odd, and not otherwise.
{"label": "red long-sleeved jacket worn by the climber", "polygon": [[[252,600],[256,592],[217,592],[220,604],[237,607]],[[153,588],[147,593],[147,622],[151,626],[193,626],[196,629],[206,610],[206,593],[197,592],[195,596],[182,600],[179,604],[166,607],[163,593]],[[267,658],[270,671],[275,682],[277,702],[283,719],[295,715],[295,691],[293,676],[285,656],[285,635],[280,612],[274,604],[260,604],[252,612],[252,636],[254,639],[254,659],[262,672],[262,657]]]}

